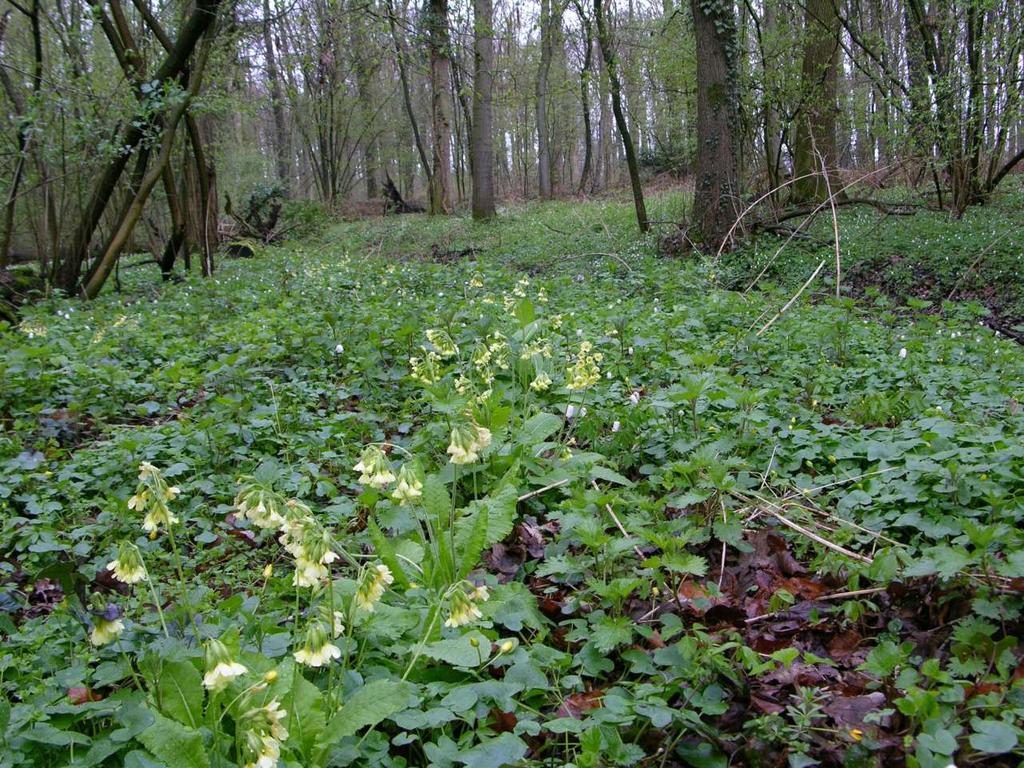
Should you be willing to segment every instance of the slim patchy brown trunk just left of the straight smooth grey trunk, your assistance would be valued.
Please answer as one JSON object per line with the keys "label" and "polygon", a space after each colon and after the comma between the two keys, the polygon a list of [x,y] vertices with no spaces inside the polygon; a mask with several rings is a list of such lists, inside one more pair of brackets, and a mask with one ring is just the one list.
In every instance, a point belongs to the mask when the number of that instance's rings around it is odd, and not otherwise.
{"label": "slim patchy brown trunk just left of the straight smooth grey trunk", "polygon": [[430,0],[427,13],[430,50],[430,115],[433,152],[430,213],[452,212],[452,59],[449,57],[447,0]]}

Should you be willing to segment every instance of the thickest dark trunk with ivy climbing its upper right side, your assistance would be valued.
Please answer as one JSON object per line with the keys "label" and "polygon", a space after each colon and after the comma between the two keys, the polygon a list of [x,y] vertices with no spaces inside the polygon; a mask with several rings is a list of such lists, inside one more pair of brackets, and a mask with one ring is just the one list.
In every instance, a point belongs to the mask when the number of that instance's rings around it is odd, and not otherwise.
{"label": "thickest dark trunk with ivy climbing its upper right side", "polygon": [[736,20],[731,2],[690,0],[697,56],[696,242],[717,250],[739,210]]}

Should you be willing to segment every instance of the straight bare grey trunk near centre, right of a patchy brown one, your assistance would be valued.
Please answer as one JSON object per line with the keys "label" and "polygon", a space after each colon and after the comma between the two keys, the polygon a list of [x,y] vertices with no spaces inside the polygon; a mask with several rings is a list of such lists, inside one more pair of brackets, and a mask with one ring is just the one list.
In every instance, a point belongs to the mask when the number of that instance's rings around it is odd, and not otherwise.
{"label": "straight bare grey trunk near centre, right of a patchy brown one", "polygon": [[493,0],[473,0],[473,218],[495,215]]}

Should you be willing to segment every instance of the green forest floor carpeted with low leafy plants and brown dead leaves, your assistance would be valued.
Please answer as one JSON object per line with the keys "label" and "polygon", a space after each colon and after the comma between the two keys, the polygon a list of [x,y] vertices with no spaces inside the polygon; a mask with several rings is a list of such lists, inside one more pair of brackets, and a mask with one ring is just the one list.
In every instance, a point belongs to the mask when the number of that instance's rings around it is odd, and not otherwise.
{"label": "green forest floor carpeted with low leafy plants and brown dead leaves", "polygon": [[[341,223],[28,308],[0,766],[243,765],[270,700],[286,765],[1017,765],[1024,349],[986,324],[1024,316],[1019,203],[844,211],[852,295],[826,261],[781,314],[830,246],[744,292],[779,239],[666,258],[615,201]],[[179,489],[154,536],[140,462]],[[330,588],[293,586],[240,477],[308,505]],[[108,569],[124,541],[152,589]],[[342,657],[298,667],[335,610]],[[208,638],[247,668],[226,693]]]}

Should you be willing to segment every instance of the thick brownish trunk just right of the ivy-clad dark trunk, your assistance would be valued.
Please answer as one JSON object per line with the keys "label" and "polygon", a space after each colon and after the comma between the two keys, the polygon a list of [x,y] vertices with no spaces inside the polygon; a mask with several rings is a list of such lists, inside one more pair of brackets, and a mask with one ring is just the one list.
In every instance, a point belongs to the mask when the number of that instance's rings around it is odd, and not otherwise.
{"label": "thick brownish trunk just right of the ivy-clad dark trunk", "polygon": [[806,0],[805,5],[803,104],[797,117],[793,148],[793,175],[799,179],[793,184],[797,203],[823,201],[829,187],[835,190],[841,186],[836,176],[840,22],[833,3],[834,0]]}

